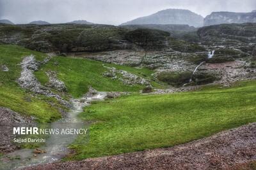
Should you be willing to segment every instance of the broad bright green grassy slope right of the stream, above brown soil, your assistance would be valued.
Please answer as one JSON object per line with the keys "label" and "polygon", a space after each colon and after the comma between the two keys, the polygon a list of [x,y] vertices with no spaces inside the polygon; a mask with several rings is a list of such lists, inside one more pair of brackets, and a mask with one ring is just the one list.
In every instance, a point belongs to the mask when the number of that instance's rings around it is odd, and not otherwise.
{"label": "broad bright green grassy slope right of the stream, above brown soil", "polygon": [[187,143],[256,121],[256,82],[228,89],[155,96],[127,96],[85,108],[80,117],[95,120],[90,142],[71,146],[84,159]]}

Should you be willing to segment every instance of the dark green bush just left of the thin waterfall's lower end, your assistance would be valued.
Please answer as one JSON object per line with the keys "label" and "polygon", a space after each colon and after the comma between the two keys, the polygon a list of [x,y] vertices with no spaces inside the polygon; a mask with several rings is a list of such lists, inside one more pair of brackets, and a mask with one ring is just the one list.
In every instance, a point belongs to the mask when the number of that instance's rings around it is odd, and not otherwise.
{"label": "dark green bush just left of the thin waterfall's lower end", "polygon": [[185,83],[189,83],[189,80],[191,78],[191,72],[190,71],[183,71],[183,72],[161,72],[157,75],[157,79],[167,82],[170,85],[173,86],[180,86]]}

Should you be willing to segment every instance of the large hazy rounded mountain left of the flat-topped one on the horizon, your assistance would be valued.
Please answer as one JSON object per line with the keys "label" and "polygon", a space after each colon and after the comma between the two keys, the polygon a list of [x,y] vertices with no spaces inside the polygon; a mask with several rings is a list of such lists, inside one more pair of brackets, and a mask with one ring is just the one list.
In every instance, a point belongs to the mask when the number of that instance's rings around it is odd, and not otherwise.
{"label": "large hazy rounded mountain left of the flat-topped one on the horizon", "polygon": [[147,17],[140,17],[121,25],[141,25],[141,24],[185,24],[194,27],[201,27],[204,18],[201,15],[189,10],[167,9],[158,11]]}

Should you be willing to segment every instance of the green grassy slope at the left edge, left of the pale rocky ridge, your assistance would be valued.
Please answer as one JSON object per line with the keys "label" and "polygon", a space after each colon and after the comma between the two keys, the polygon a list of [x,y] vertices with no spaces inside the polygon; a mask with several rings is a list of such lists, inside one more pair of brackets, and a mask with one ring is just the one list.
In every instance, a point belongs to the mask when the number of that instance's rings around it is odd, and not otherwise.
{"label": "green grassy slope at the left edge, left of the pale rocky ridge", "polygon": [[34,52],[14,45],[0,45],[0,65],[5,64],[10,71],[0,71],[0,106],[10,108],[23,115],[33,115],[38,122],[51,122],[60,118],[56,108],[49,103],[56,102],[44,96],[31,96],[31,93],[20,89],[16,83],[20,76],[22,58],[33,53],[37,60],[44,59],[43,53]]}

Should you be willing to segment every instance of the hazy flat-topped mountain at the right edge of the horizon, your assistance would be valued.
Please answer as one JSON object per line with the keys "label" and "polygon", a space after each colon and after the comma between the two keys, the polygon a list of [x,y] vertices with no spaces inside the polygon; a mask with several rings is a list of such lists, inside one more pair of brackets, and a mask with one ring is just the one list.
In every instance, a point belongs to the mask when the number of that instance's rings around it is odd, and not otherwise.
{"label": "hazy flat-topped mountain at the right edge of the horizon", "polygon": [[246,22],[256,22],[256,12],[235,13],[235,12],[212,12],[204,18],[204,26],[218,24],[241,24]]}

